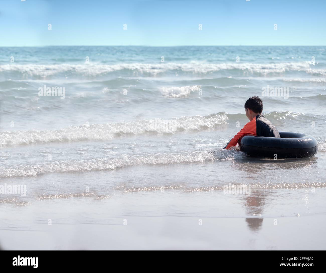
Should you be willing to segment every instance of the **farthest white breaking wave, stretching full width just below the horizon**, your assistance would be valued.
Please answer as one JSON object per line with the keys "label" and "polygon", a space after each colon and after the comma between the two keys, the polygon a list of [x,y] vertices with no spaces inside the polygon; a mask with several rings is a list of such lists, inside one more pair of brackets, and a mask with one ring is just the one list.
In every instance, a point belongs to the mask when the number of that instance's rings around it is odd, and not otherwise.
{"label": "farthest white breaking wave, stretching full width just below the horizon", "polygon": [[168,71],[183,71],[207,74],[221,70],[240,70],[260,74],[304,71],[314,75],[325,75],[325,69],[312,69],[307,61],[280,63],[121,63],[121,64],[3,64],[0,72],[18,73],[23,76],[49,77],[53,75],[76,74],[81,76],[105,75],[115,71],[130,71],[133,74],[157,75]]}

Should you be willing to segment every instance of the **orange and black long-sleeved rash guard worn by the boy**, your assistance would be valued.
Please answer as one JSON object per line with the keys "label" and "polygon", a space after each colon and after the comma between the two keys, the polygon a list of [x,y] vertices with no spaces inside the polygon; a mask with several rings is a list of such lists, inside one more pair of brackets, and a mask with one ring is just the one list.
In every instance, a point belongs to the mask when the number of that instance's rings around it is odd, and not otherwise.
{"label": "orange and black long-sleeved rash guard worn by the boy", "polygon": [[258,115],[244,125],[244,128],[242,128],[223,149],[230,149],[236,146],[239,140],[245,135],[280,137],[276,127],[263,115]]}

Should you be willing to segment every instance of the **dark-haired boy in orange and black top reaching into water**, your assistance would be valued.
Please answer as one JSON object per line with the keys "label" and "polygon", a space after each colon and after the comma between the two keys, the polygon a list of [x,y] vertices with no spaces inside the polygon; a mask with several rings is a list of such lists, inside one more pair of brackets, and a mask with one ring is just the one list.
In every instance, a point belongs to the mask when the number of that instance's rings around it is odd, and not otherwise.
{"label": "dark-haired boy in orange and black top reaching into water", "polygon": [[257,97],[253,96],[244,103],[245,115],[249,118],[249,122],[244,125],[223,149],[230,149],[236,146],[241,138],[245,135],[267,136],[267,137],[280,137],[278,130],[275,126],[261,115],[263,111],[263,102]]}

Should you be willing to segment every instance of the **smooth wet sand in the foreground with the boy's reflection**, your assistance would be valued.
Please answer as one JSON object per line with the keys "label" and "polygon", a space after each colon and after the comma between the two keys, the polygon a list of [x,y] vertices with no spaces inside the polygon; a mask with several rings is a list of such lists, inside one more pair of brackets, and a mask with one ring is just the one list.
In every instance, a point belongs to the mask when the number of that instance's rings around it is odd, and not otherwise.
{"label": "smooth wet sand in the foreground with the boy's reflection", "polygon": [[[296,196],[296,198],[291,198]],[[5,250],[325,250],[325,188],[180,190],[1,204]],[[51,221],[51,225],[49,225]]]}

